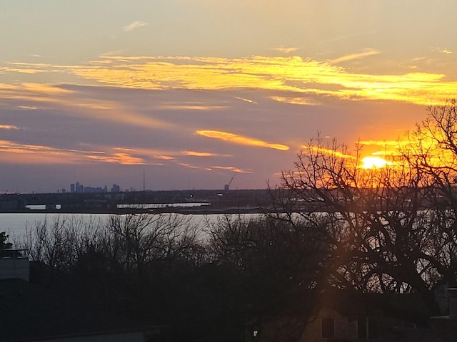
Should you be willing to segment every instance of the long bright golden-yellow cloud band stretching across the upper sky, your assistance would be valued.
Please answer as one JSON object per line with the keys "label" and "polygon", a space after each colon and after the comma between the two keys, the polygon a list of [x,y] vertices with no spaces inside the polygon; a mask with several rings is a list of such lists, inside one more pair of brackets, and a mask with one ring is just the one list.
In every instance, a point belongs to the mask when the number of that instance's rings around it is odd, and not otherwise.
{"label": "long bright golden-yellow cloud band stretching across the upper sky", "polygon": [[[451,52],[446,50],[447,53]],[[283,91],[325,95],[343,100],[392,100],[418,105],[446,103],[457,93],[457,81],[441,73],[378,75],[354,73],[336,64],[373,56],[376,50],[350,53],[333,61],[317,61],[297,56],[212,58],[176,56],[101,56],[81,66],[54,66],[14,63],[3,73],[49,71],[67,73],[93,82],[140,89],[263,89],[281,92],[276,100],[287,102]],[[13,70],[14,69],[14,70]],[[329,90],[331,89],[331,90]],[[290,99],[289,98],[289,99]],[[290,101],[290,100],[289,100]],[[294,104],[309,103],[294,101]],[[194,107],[194,109],[205,109]],[[189,108],[189,109],[191,109]]]}

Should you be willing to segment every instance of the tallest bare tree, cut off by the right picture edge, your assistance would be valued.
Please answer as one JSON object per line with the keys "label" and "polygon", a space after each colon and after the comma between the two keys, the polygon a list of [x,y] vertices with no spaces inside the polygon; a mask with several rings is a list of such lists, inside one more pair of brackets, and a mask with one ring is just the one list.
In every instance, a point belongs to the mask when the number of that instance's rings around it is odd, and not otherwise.
{"label": "tallest bare tree, cut off by the right picture edge", "polygon": [[428,179],[431,250],[441,281],[457,281],[457,103],[450,100],[428,108],[428,117],[410,135],[403,155],[418,165]]}

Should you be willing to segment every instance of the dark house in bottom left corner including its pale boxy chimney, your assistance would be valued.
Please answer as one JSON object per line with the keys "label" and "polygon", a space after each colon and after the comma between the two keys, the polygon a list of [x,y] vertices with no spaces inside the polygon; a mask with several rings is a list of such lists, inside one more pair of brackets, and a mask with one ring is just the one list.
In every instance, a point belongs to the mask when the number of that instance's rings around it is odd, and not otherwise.
{"label": "dark house in bottom left corner including its pale boxy chimney", "polygon": [[[138,326],[64,289],[51,289],[30,276],[24,251],[0,253],[0,341],[164,341],[159,326]],[[32,267],[32,270],[34,267]],[[41,272],[42,273],[42,272]]]}

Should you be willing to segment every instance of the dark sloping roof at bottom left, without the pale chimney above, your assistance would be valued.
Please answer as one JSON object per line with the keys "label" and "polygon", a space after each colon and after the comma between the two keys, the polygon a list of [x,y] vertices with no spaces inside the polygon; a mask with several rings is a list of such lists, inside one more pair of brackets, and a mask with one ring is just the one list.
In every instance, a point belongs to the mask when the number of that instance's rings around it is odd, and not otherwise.
{"label": "dark sloping roof at bottom left, without the pale chimney above", "polygon": [[0,341],[146,341],[142,328],[18,278],[0,280],[0,322]]}

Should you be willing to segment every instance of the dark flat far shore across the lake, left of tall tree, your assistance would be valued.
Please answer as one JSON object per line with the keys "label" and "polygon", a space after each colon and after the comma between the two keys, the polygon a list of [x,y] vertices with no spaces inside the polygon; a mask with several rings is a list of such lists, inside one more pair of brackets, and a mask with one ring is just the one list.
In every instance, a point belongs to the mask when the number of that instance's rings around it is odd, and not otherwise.
{"label": "dark flat far shore across the lake, left of tall tree", "polygon": [[0,212],[18,214],[261,214],[268,209],[271,209],[270,190],[0,195]]}

